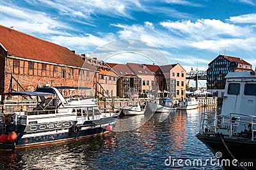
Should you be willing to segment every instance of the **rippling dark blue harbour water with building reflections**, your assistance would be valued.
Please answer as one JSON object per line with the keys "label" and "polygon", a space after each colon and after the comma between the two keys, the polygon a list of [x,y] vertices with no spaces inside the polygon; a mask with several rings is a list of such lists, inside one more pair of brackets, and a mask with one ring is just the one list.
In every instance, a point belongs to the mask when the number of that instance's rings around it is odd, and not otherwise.
{"label": "rippling dark blue harbour water with building reflections", "polygon": [[[215,109],[172,112],[167,118],[154,114],[146,123],[143,116],[132,117],[133,130],[111,132],[69,143],[0,151],[1,169],[220,169],[218,166],[173,166],[182,160],[215,158],[195,135],[200,112]],[[166,118],[164,120],[164,118]],[[118,121],[117,127],[122,127]],[[172,164],[166,166],[166,159]]]}

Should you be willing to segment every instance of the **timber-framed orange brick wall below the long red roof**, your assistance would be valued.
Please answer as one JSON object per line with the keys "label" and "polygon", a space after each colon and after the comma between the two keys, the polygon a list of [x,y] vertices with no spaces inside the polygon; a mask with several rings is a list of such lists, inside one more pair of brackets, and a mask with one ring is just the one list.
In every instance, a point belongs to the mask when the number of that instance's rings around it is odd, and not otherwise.
{"label": "timber-framed orange brick wall below the long red roof", "polygon": [[[26,91],[35,90],[38,84],[93,88],[95,72],[92,71],[12,58],[6,58],[5,63],[4,92],[9,90],[12,75]],[[13,89],[22,90],[17,89],[15,81],[13,81]]]}

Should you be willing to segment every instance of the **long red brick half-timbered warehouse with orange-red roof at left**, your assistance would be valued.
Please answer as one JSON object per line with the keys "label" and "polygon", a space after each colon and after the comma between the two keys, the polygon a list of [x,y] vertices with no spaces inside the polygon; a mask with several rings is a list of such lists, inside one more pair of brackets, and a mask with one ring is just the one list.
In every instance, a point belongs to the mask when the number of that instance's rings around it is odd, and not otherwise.
{"label": "long red brick half-timbered warehouse with orange-red roof at left", "polygon": [[21,90],[17,82],[28,91],[38,84],[93,88],[98,75],[94,66],[66,47],[1,25],[0,63],[0,94]]}

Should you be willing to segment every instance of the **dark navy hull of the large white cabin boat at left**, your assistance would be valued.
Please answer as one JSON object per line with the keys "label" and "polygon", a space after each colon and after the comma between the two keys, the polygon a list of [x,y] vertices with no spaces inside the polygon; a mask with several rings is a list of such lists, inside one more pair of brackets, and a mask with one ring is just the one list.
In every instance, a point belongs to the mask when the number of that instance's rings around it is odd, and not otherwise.
{"label": "dark navy hull of the large white cabin boat at left", "polygon": [[[31,129],[30,126],[22,126],[20,129],[23,129],[24,131],[20,130],[15,143],[0,143],[0,150],[15,150],[18,148],[26,148],[42,144],[61,143],[65,141],[83,139],[84,137],[91,137],[94,135],[102,135],[109,132],[107,130],[108,125],[111,125],[112,127],[115,126],[115,121],[117,118],[118,115],[95,121],[85,121],[83,125],[79,126],[73,124],[72,127],[61,127],[52,130],[46,129],[44,131],[40,131],[37,128],[38,131],[35,130],[33,132],[26,132],[26,130]],[[45,126],[48,127],[48,125]]]}

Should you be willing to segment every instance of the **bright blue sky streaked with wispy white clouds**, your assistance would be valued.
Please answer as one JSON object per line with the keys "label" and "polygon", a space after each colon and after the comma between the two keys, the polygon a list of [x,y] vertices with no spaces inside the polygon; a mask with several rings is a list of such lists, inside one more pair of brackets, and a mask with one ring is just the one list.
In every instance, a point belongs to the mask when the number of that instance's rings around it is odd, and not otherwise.
{"label": "bright blue sky streaked with wispy white clouds", "polygon": [[[253,0],[9,0],[0,1],[0,24],[79,54],[115,40],[141,40],[187,72],[206,70],[219,54],[256,65]],[[137,55],[109,59],[115,61],[152,62]]]}

